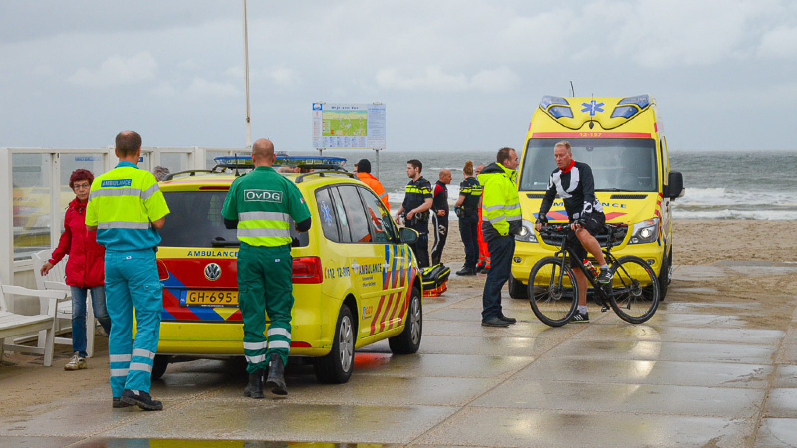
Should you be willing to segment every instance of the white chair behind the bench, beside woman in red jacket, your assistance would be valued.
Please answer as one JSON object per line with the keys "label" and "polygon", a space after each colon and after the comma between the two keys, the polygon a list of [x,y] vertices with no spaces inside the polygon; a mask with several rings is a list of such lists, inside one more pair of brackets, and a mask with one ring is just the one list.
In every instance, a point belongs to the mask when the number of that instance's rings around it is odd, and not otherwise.
{"label": "white chair behind the bench, beside woman in red jacket", "polygon": [[[44,277],[41,276],[41,266],[49,261],[52,250],[42,250],[41,252],[33,253],[31,259],[33,260],[33,277],[36,277],[37,289],[49,291],[65,291],[67,301],[58,303],[56,312],[56,333],[64,333],[72,328],[72,289],[66,284],[66,262],[69,260],[69,255],[65,256],[57,265],[50,269],[49,273]],[[61,320],[68,320],[69,324],[62,324]],[[92,307],[91,290],[88,291],[86,297],[86,355],[91,358],[94,355],[94,330],[96,329],[96,322],[94,320],[94,308]],[[44,344],[44,334],[39,337],[39,347]],[[56,344],[72,345],[71,337],[56,336]]]}

